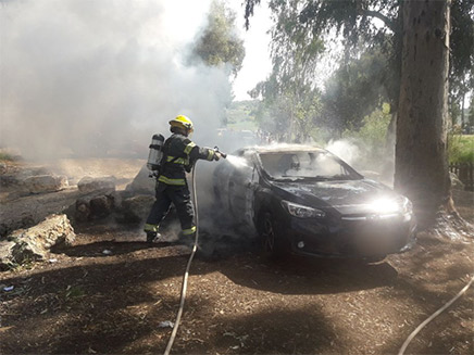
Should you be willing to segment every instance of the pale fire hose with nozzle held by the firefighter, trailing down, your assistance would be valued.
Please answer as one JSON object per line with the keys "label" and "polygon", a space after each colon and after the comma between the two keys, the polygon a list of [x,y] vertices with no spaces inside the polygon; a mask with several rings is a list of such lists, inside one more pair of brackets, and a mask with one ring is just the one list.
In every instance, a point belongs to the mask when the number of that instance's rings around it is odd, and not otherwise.
{"label": "pale fire hose with nozzle held by the firefighter, trailing down", "polygon": [[[222,153],[217,147],[215,147],[214,151],[222,155],[222,157],[227,157],[225,153]],[[177,329],[179,327],[179,322],[183,316],[183,309],[185,307],[185,300],[186,300],[186,291],[188,289],[188,277],[189,277],[189,269],[191,267],[192,258],[195,257],[196,251],[198,250],[198,240],[199,240],[199,208],[198,208],[198,194],[196,193],[196,162],[192,164],[192,201],[195,203],[195,210],[196,210],[196,233],[195,233],[195,242],[191,250],[191,255],[189,255],[188,264],[186,265],[186,271],[183,276],[183,284],[182,284],[182,292],[180,292],[180,300],[179,300],[179,309],[176,315],[176,320],[173,326],[173,331],[170,335],[170,340],[167,341],[166,350],[164,351],[164,355],[170,355],[171,348],[173,347],[174,340],[176,338]]]}

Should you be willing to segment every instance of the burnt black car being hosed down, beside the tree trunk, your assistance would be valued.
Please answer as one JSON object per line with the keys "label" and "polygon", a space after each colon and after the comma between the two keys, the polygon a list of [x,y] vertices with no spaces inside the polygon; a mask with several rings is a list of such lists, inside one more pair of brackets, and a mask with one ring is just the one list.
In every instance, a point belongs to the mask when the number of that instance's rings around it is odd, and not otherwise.
{"label": "burnt black car being hosed down, beside the tree trunk", "polygon": [[270,257],[375,261],[415,239],[409,199],[321,148],[240,149],[216,167],[214,192],[219,208],[254,230]]}

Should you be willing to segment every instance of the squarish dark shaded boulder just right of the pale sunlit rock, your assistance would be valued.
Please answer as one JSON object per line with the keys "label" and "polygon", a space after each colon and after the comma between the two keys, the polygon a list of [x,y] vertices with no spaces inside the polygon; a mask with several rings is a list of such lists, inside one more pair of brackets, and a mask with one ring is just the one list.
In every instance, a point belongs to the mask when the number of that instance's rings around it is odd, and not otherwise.
{"label": "squarish dark shaded boulder just right of the pale sunlit rock", "polygon": [[115,206],[113,194],[82,198],[76,201],[75,218],[78,221],[109,216]]}

